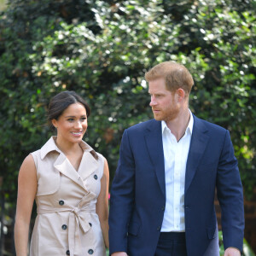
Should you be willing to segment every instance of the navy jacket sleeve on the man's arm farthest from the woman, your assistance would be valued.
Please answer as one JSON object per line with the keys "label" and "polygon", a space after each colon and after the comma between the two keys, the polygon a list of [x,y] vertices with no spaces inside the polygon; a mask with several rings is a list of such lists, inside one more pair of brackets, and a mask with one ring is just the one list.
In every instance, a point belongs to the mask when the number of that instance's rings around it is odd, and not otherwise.
{"label": "navy jacket sleeve on the man's arm farthest from the woman", "polygon": [[226,131],[224,145],[218,161],[216,185],[221,207],[224,248],[236,247],[242,251],[244,230],[243,192],[229,131]]}

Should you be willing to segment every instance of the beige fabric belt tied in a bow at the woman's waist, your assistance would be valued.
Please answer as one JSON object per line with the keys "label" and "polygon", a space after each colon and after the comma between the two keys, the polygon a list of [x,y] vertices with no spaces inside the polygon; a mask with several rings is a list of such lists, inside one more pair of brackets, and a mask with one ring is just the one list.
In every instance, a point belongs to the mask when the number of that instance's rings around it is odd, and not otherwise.
{"label": "beige fabric belt tied in a bow at the woman's waist", "polygon": [[95,204],[91,204],[91,201],[83,198],[77,207],[69,206],[67,203],[65,203],[65,207],[61,206],[61,208],[38,207],[37,212],[38,214],[70,212],[68,216],[68,250],[71,256],[82,253],[79,233],[82,232],[85,234],[88,230],[90,230],[90,212],[96,212]]}

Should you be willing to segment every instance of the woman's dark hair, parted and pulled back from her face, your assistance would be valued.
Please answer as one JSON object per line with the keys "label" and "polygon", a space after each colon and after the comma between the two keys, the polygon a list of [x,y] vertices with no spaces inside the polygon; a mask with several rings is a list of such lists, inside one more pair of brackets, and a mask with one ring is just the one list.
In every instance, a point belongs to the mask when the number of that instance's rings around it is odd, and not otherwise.
{"label": "woman's dark hair, parted and pulled back from her face", "polygon": [[51,121],[53,119],[57,120],[64,110],[74,103],[82,104],[86,110],[87,118],[90,116],[90,107],[82,97],[72,90],[61,91],[57,95],[53,96],[49,102],[48,122],[51,128],[54,128]]}

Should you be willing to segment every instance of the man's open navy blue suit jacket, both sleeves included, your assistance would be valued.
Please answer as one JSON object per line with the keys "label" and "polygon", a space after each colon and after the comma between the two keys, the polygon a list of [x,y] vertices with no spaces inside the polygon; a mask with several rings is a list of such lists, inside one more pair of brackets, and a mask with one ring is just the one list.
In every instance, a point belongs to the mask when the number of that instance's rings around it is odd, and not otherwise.
{"label": "man's open navy blue suit jacket, both sleeves included", "polygon": [[[194,116],[184,191],[189,256],[204,255],[211,241],[218,239],[215,189],[222,211],[224,247],[242,250],[243,195],[230,133]],[[111,189],[110,253],[154,256],[165,206],[161,122],[152,119],[123,134]]]}

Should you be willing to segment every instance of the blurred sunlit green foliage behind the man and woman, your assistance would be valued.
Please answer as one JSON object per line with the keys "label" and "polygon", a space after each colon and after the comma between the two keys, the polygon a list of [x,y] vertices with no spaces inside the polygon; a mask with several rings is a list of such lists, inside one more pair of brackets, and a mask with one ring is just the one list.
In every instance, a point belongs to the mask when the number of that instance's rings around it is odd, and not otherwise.
{"label": "blurred sunlit green foliage behind the man and woman", "polygon": [[89,102],[84,139],[107,158],[112,180],[124,129],[153,117],[143,75],[160,61],[189,68],[190,109],[230,130],[246,198],[253,198],[255,0],[6,3],[0,0],[2,223],[15,218],[22,160],[52,134],[49,98],[75,90]]}

